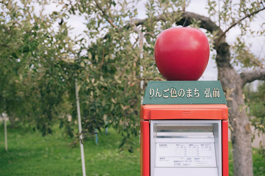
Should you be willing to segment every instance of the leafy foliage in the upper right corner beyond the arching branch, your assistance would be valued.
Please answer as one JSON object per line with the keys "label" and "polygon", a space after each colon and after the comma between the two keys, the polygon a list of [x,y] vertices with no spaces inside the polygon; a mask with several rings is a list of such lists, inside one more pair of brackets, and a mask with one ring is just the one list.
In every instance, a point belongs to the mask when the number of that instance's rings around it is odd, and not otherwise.
{"label": "leafy foliage in the upper right corner beyond the arching branch", "polygon": [[[251,22],[254,21],[255,16],[250,14],[260,8],[262,8],[262,3],[259,1],[208,0],[208,13],[212,20],[216,19],[213,21],[216,21],[224,34],[234,26],[239,27],[240,32],[238,32],[236,41],[229,45],[231,45],[232,64],[236,67],[240,66],[242,70],[254,67],[263,68],[264,65],[264,56],[257,57],[251,53],[249,49],[251,45],[246,42],[246,36],[262,36],[264,33],[264,24],[259,29],[251,28]],[[212,35],[213,42],[220,37],[218,32],[214,32]]]}

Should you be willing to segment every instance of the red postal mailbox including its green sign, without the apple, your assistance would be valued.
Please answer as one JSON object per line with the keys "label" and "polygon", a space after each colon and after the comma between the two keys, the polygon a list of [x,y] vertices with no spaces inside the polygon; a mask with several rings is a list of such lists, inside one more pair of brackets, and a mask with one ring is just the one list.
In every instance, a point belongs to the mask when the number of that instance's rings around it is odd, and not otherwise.
{"label": "red postal mailbox including its green sign, without the apple", "polygon": [[228,176],[219,81],[150,81],[140,108],[141,176]]}

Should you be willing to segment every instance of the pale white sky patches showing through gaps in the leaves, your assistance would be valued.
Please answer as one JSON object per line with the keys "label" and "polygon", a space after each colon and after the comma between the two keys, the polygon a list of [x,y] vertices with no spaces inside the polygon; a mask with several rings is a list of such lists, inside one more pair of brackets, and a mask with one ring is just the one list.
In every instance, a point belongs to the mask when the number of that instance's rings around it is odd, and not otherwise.
{"label": "pale white sky patches showing through gaps in the leaves", "polygon": [[[138,16],[137,18],[145,18],[145,6],[144,3],[146,0],[141,0],[137,4],[137,11]],[[203,16],[208,16],[207,9],[205,9],[207,5],[206,0],[191,0],[189,6],[186,8],[186,11],[198,13]],[[46,13],[52,13],[52,11],[56,11],[58,8],[56,7],[56,4],[49,5],[49,8],[46,9]],[[67,23],[69,26],[73,28],[73,30],[70,33],[70,36],[74,38],[75,36],[80,35],[83,33],[83,31],[86,28],[86,25],[84,24],[85,18],[80,16],[71,16]],[[262,23],[265,23],[265,10],[260,12],[253,23],[251,23],[251,27],[253,29],[260,28],[260,25]],[[229,43],[233,43],[235,41],[237,34],[239,33],[239,28],[234,27],[228,33],[226,34],[226,40]],[[246,37],[246,41],[248,41],[250,44],[252,44],[251,51],[253,53],[256,53],[257,56],[264,57],[265,55],[265,37]],[[217,68],[215,60],[209,59],[208,66],[203,74],[203,76],[199,80],[217,80]]]}

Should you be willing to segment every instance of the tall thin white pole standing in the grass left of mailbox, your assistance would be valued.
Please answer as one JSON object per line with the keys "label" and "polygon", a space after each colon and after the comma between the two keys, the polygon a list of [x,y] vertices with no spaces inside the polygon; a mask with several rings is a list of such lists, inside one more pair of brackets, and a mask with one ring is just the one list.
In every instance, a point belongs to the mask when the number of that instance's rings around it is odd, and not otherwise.
{"label": "tall thin white pole standing in the grass left of mailbox", "polygon": [[83,176],[86,176],[84,145],[81,142],[83,136],[82,136],[82,126],[81,126],[80,105],[79,105],[79,98],[78,98],[77,78],[75,78],[75,97],[76,97],[76,106],[77,106],[78,131],[80,133],[79,141],[80,141],[80,150],[81,150],[82,172],[83,172]]}

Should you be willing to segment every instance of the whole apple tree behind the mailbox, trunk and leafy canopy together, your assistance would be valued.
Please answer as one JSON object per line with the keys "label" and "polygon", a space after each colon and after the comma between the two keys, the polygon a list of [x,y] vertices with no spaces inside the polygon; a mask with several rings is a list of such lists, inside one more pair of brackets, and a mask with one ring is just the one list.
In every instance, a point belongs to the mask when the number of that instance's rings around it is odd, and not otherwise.
{"label": "whole apple tree behind the mailbox, trunk and leafy canopy together", "polygon": [[[130,136],[138,133],[140,100],[147,81],[164,80],[157,72],[154,60],[158,34],[182,25],[185,18],[191,21],[190,26],[205,29],[216,53],[218,79],[228,100],[234,175],[253,175],[251,130],[245,112],[243,86],[256,79],[264,80],[265,69],[263,58],[251,54],[243,38],[247,34],[264,35],[262,27],[253,32],[249,26],[265,9],[263,1],[209,0],[208,16],[201,16],[185,11],[189,0],[150,0],[145,4],[145,19],[137,19],[134,0],[57,0],[59,10],[46,16],[40,13],[43,18],[33,15],[30,1],[21,1],[24,8],[19,10],[15,8],[15,1],[3,2],[1,59],[8,58],[5,69],[15,63],[13,66],[18,65],[24,74],[20,76],[15,72],[14,79],[6,77],[2,81],[10,80],[16,87],[23,85],[26,93],[9,87],[0,89],[0,96],[11,100],[13,93],[20,98],[28,95],[29,100],[34,101],[27,101],[27,107],[30,107],[27,117],[32,116],[43,134],[50,132],[47,127],[60,116],[57,119],[60,127],[65,126],[67,133],[73,135],[76,112],[69,109],[76,109],[74,78],[77,77],[84,134],[111,125],[124,136],[121,147],[129,148],[129,151],[132,151]],[[45,3],[49,4],[49,1]],[[66,22],[72,15],[82,16],[87,27],[74,43],[68,36]],[[51,24],[57,24],[57,27]],[[239,27],[241,33],[236,41],[227,43],[226,33],[235,27]],[[18,58],[20,62],[17,62]],[[235,66],[242,67],[243,71],[236,71]],[[27,79],[30,83],[22,84]],[[6,93],[9,89],[11,93]],[[15,112],[21,114],[20,110]],[[66,118],[69,113],[72,113],[72,121]]]}

